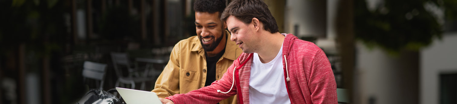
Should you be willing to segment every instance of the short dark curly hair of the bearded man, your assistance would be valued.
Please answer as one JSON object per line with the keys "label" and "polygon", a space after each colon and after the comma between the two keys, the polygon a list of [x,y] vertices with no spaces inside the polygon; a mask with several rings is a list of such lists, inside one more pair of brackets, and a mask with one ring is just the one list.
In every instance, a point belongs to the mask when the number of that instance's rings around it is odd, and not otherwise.
{"label": "short dark curly hair of the bearded man", "polygon": [[225,0],[196,0],[194,3],[195,12],[214,13],[218,11],[219,17],[221,17],[224,9]]}

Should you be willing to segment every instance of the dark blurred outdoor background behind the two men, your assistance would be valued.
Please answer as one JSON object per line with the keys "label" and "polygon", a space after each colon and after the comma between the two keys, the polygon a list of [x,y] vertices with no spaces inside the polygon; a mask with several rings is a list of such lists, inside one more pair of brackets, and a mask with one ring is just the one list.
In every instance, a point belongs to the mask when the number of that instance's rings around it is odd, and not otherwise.
{"label": "dark blurred outdoor background behind the two men", "polygon": [[[0,0],[0,104],[152,90],[175,43],[196,35],[193,2]],[[264,2],[281,33],[324,50],[349,103],[457,104],[457,0]]]}

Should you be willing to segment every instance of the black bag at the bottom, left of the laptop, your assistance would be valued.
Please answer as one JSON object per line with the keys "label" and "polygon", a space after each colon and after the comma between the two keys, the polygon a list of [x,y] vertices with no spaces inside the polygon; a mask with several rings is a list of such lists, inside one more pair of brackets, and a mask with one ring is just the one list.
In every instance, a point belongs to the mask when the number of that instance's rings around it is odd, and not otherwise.
{"label": "black bag at the bottom, left of the laptop", "polygon": [[85,94],[76,104],[125,104],[121,101],[122,98],[119,97],[118,99],[115,95],[109,92],[117,93],[117,90],[115,88],[108,91],[90,89],[89,92],[87,92],[87,94]]}

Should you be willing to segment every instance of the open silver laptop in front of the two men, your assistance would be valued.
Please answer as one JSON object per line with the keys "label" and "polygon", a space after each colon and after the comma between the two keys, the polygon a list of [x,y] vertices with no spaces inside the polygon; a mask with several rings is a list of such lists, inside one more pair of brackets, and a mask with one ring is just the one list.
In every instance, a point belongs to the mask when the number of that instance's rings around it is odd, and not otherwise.
{"label": "open silver laptop in front of the two men", "polygon": [[162,104],[154,92],[118,87],[116,90],[127,104]]}

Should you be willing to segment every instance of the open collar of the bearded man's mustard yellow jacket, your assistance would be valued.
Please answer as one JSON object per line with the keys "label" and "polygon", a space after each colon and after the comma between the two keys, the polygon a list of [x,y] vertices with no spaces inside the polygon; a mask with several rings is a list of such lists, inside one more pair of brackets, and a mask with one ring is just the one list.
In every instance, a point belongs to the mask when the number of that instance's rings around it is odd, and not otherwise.
{"label": "open collar of the bearded man's mustard yellow jacket", "polygon": [[[230,36],[232,36],[227,30],[225,30],[227,34],[227,44],[225,44],[225,52],[222,57],[235,60],[236,59],[236,48],[237,45],[235,42],[230,40]],[[200,39],[197,37],[197,43],[195,43],[194,47],[192,48],[192,52],[198,52],[200,56],[205,57],[205,51],[203,50],[202,44],[200,43]]]}

